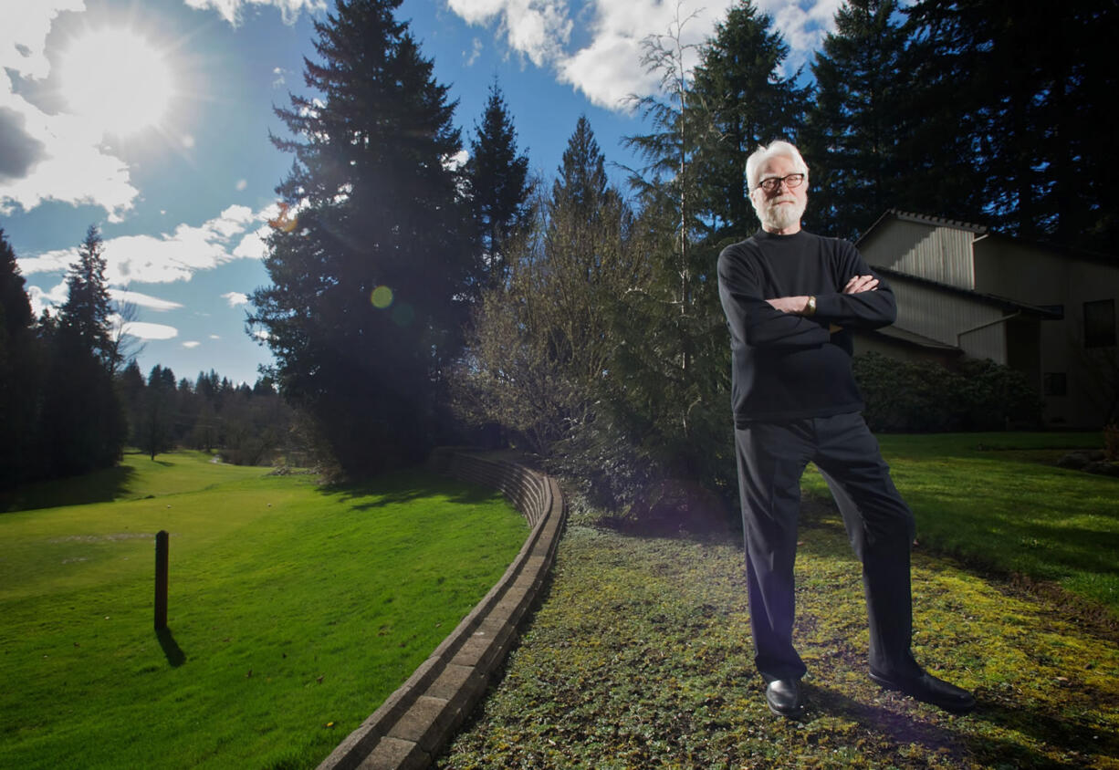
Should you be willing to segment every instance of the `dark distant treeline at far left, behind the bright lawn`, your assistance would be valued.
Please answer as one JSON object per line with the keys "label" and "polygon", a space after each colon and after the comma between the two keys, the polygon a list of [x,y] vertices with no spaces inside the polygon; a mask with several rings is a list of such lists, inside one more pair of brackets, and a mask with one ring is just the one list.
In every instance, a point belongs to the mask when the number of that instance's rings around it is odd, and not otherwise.
{"label": "dark distant treeline at far left, behind the bright lawn", "polygon": [[[69,295],[36,319],[0,228],[0,489],[107,468],[125,445],[154,457],[185,445],[227,462],[272,459],[291,411],[266,379],[233,385],[215,372],[176,383],[144,379],[105,285],[101,235],[91,227],[66,275]],[[125,364],[125,361],[128,361]]]}

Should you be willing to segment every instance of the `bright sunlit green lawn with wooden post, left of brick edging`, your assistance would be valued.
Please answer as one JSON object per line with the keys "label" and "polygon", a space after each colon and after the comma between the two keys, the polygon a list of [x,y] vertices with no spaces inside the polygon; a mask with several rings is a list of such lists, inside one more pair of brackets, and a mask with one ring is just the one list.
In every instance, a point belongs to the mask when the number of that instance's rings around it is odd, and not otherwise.
{"label": "bright sunlit green lawn with wooden post, left of brick edging", "polygon": [[0,767],[314,767],[527,535],[500,495],[419,471],[322,490],[175,453],[109,476],[22,499],[112,501],[0,515]]}

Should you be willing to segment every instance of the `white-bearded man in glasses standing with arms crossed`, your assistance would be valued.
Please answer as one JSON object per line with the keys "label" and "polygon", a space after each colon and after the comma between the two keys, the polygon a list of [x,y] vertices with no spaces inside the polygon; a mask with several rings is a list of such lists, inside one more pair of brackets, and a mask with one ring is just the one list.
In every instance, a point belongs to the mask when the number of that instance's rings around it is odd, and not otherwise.
{"label": "white-bearded man in glasses standing with arms crossed", "polygon": [[894,295],[847,241],[800,228],[808,167],[773,142],[746,161],[762,228],[718,257],[731,331],[732,401],[745,530],[754,663],[770,710],[798,716],[806,667],[792,644],[800,477],[811,461],[863,562],[871,678],[955,713],[965,689],[927,674],[910,651],[913,515],[863,421],[848,329],[893,323]]}

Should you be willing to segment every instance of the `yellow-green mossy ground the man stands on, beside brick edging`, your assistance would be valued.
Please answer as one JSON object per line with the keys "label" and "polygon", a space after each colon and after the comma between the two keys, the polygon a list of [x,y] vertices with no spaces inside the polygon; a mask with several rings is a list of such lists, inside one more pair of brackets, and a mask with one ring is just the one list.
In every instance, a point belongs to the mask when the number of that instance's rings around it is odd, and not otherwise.
{"label": "yellow-green mossy ground the man stands on, beside brick edging", "polygon": [[797,562],[800,721],[753,669],[733,538],[623,535],[573,514],[504,677],[440,768],[1119,768],[1119,646],[1042,598],[924,553],[914,652],[975,691],[953,716],[874,685],[859,566],[838,515],[806,505]]}

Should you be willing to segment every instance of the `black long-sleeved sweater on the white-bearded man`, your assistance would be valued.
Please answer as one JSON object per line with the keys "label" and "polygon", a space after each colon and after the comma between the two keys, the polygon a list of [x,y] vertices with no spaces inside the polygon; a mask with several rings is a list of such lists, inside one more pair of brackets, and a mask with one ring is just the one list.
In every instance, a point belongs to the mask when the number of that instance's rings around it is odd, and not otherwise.
{"label": "black long-sleeved sweater on the white-bearded man", "polygon": [[[855,275],[874,275],[876,291],[844,294]],[[759,231],[718,256],[718,295],[731,330],[734,424],[858,412],[848,329],[894,322],[890,287],[855,246],[803,231]],[[816,314],[784,313],[765,300],[816,297]],[[830,334],[830,325],[843,327]]]}

